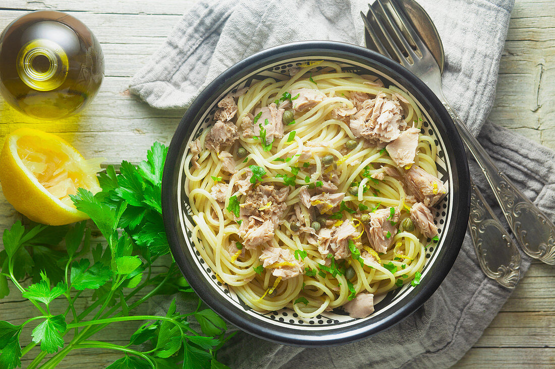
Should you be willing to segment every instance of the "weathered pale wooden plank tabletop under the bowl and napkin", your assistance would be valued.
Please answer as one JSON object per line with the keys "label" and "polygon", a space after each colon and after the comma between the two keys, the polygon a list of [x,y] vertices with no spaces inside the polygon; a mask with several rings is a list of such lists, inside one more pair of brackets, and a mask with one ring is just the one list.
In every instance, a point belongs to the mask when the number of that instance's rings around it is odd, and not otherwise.
{"label": "weathered pale wooden plank tabletop under the bowl and napkin", "polygon": [[[72,1],[3,0],[0,29],[28,11],[68,12],[93,30],[102,43],[105,79],[92,105],[63,122],[33,121],[0,98],[0,135],[33,126],[57,132],[85,157],[108,162],[139,161],[155,140],[168,143],[181,111],[150,108],[127,92],[129,77],[163,43],[173,25],[195,0]],[[555,4],[552,0],[517,0],[501,59],[497,98],[490,120],[555,149]],[[0,229],[17,214],[0,195]],[[458,367],[555,366],[555,269],[533,263],[501,312]],[[14,323],[34,314],[14,291],[0,301],[0,319]],[[33,315],[34,316],[34,315]],[[102,339],[122,344],[134,325],[104,332]],[[22,344],[30,332],[23,332]],[[32,352],[30,353],[32,354]],[[32,355],[27,355],[32,357]],[[100,368],[118,353],[74,351],[59,367]],[[30,361],[23,361],[26,366]]]}

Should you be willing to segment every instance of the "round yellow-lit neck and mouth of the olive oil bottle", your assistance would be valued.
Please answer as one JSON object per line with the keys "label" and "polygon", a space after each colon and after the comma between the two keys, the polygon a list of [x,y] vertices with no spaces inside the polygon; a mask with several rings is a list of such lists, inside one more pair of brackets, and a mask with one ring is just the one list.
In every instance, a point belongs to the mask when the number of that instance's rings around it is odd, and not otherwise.
{"label": "round yellow-lit neck and mouth of the olive oil bottle", "polygon": [[19,50],[17,57],[19,78],[38,91],[51,91],[62,85],[68,67],[64,50],[47,39],[32,40]]}

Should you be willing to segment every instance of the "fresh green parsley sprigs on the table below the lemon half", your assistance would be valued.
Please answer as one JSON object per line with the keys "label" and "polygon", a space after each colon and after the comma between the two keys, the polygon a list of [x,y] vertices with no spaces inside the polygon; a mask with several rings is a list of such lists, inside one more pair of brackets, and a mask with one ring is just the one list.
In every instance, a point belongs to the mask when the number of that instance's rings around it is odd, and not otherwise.
{"label": "fresh green parsley sprigs on the table below the lemon half", "polygon": [[[29,365],[32,369],[53,368],[72,350],[85,348],[125,355],[109,368],[225,367],[216,360],[218,349],[231,337],[225,334],[225,322],[214,311],[201,309],[173,259],[164,257],[169,253],[161,206],[166,153],[165,146],[154,143],[138,166],[124,161],[119,174],[109,166],[99,175],[101,192],[79,189],[72,199],[94,225],[24,226],[18,221],[4,230],[0,299],[10,293],[9,280],[36,306],[37,315],[19,325],[0,321],[0,368],[21,366],[21,357],[31,355],[36,345],[41,352]],[[92,247],[95,228],[105,240]],[[56,247],[60,243],[65,248]],[[168,266],[159,274],[152,268],[158,259]],[[24,287],[20,281],[26,276],[33,284]],[[92,292],[92,299],[83,297],[85,290]],[[181,314],[173,301],[165,316],[133,315],[152,296],[178,292],[198,301],[194,311]],[[65,307],[60,309],[58,300]],[[190,326],[190,319],[200,330]],[[129,345],[90,339],[107,325],[125,321],[148,321],[130,337]],[[34,329],[21,349],[21,334],[28,325]],[[69,331],[73,335],[67,335]],[[146,342],[152,350],[132,346]],[[46,360],[47,354],[54,355]]]}

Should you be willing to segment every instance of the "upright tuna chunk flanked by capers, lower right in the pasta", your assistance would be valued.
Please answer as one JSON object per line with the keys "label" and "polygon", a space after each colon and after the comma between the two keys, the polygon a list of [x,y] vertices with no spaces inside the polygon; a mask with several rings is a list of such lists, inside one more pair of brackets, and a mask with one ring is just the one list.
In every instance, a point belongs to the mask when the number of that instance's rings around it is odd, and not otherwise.
{"label": "upright tuna chunk flanked by capers, lower right in the pasta", "polygon": [[[391,215],[393,209],[393,216]],[[397,234],[395,226],[399,221],[399,209],[385,208],[370,213],[370,224],[364,226],[370,246],[379,253],[386,253],[393,243],[393,236]]]}

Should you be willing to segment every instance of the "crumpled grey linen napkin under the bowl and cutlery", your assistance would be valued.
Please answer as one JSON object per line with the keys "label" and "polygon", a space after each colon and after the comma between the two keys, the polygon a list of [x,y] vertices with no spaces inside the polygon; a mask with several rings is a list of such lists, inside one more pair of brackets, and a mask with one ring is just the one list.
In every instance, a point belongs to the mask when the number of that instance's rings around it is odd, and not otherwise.
{"label": "crumpled grey linen napkin under the bowl and cutlery", "polygon": [[[486,123],[513,0],[420,0],[446,53],[443,91],[499,168],[549,217],[555,218],[555,153]],[[199,2],[131,81],[130,90],[162,109],[185,108],[206,84],[248,55],[297,40],[364,45],[359,12],[365,1],[284,0]],[[501,213],[471,161],[475,182]],[[530,260],[523,256],[522,271]],[[400,324],[364,341],[302,349],[240,332],[219,359],[233,368],[448,367],[478,340],[511,291],[486,278],[470,237],[435,294]],[[171,296],[173,298],[174,296]],[[164,312],[169,298],[154,303]],[[194,309],[178,297],[181,309]]]}

